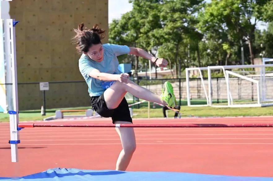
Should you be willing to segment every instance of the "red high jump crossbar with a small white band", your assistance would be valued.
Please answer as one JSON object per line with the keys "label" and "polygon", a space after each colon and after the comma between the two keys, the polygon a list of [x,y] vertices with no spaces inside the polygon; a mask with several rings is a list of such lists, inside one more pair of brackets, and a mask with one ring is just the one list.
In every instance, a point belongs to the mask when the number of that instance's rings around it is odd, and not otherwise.
{"label": "red high jump crossbar with a small white band", "polygon": [[34,127],[91,127],[91,128],[253,128],[273,127],[273,124],[29,124],[20,123],[21,128]]}

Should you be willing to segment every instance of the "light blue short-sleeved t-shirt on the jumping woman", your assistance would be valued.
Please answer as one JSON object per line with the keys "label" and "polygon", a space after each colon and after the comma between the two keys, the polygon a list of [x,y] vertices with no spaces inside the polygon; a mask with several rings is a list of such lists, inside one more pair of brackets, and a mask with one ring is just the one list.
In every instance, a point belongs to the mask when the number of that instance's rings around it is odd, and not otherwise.
{"label": "light blue short-sleeved t-shirt on the jumping woman", "polygon": [[[84,53],[79,59],[79,69],[81,75],[85,79],[88,85],[89,95],[100,96],[107,87],[110,86],[110,82],[100,81],[89,76],[89,73],[94,68],[103,73],[108,74],[121,74],[121,71],[118,70],[118,60],[117,56],[122,54],[127,54],[130,52],[130,49],[126,45],[115,45],[115,44],[103,44],[103,61],[96,62],[86,56]],[[105,86],[106,85],[106,86]]]}

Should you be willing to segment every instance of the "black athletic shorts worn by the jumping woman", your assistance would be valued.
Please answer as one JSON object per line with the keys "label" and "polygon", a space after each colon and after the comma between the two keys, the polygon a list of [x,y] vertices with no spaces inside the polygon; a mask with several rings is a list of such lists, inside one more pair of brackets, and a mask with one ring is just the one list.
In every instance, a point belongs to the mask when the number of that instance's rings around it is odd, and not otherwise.
{"label": "black athletic shorts worn by the jumping woman", "polygon": [[115,109],[108,109],[106,102],[104,100],[104,93],[100,96],[93,96],[90,99],[92,108],[102,117],[108,118],[112,117],[112,122],[115,121],[128,121],[132,123],[132,118],[130,115],[130,110],[128,103],[123,97],[121,103]]}

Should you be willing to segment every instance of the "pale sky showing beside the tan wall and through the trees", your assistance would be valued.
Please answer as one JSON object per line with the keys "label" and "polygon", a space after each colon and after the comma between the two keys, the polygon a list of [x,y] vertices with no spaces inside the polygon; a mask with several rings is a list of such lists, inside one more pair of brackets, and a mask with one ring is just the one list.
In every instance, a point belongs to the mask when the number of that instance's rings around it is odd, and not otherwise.
{"label": "pale sky showing beside the tan wall and through the trees", "polygon": [[[210,0],[206,0],[210,2]],[[120,19],[122,14],[131,11],[133,8],[132,3],[128,0],[108,0],[108,22],[111,23],[113,19]],[[253,21],[253,20],[252,20]],[[266,29],[268,24],[264,25],[263,22],[258,22],[258,29]]]}

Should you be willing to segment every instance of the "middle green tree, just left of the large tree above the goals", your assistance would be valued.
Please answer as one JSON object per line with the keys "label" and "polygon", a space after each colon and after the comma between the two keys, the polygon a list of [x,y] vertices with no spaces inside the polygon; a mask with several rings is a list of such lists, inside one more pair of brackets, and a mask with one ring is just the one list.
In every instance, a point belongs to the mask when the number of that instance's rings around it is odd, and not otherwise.
{"label": "middle green tree, just left of the large tree above the goals", "polygon": [[[174,53],[174,63],[176,67],[176,75],[178,76],[178,62],[180,46],[183,44],[183,37],[188,36],[191,32],[195,31],[194,26],[197,23],[194,16],[200,9],[200,3],[202,0],[164,0],[161,20],[163,24],[162,29],[162,45],[166,49],[169,49],[171,53]],[[171,42],[174,45],[170,45]],[[188,45],[186,45],[188,48]],[[185,48],[185,47],[184,47]],[[186,48],[186,49],[187,49]],[[189,61],[189,60],[187,60]],[[179,70],[180,72],[181,70]]]}

